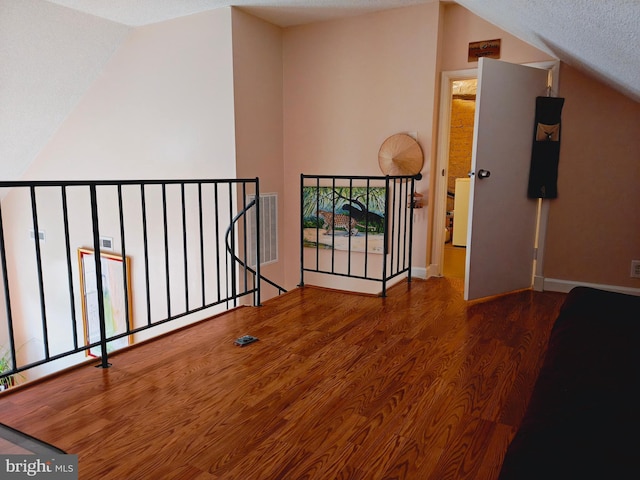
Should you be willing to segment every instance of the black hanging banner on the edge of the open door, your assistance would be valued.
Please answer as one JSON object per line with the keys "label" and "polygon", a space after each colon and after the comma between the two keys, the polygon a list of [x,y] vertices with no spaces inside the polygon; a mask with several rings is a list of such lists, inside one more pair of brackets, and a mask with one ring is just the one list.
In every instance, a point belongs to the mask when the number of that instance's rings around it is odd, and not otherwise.
{"label": "black hanging banner on the edge of the open door", "polygon": [[529,169],[529,198],[558,196],[560,158],[560,117],[564,98],[537,97],[533,148]]}

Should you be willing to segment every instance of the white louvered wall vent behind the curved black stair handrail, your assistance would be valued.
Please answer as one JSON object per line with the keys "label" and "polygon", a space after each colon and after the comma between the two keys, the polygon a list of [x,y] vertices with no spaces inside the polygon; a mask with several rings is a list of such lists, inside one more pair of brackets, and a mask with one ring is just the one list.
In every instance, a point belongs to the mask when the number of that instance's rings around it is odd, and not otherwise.
{"label": "white louvered wall vent behind the curved black stair handrail", "polygon": [[[255,195],[247,196],[247,203],[251,202]],[[248,212],[249,230],[249,266],[255,267],[256,244],[253,232],[256,231],[256,208],[252,207]],[[260,265],[266,265],[278,261],[278,194],[266,193],[260,195]]]}

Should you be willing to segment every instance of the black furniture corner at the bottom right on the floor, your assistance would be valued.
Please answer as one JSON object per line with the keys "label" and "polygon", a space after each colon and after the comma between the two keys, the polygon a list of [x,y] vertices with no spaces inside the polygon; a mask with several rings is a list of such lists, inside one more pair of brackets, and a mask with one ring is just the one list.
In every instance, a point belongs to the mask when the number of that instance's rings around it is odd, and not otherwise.
{"label": "black furniture corner at the bottom right on the floor", "polygon": [[640,478],[640,297],[576,287],[499,480]]}

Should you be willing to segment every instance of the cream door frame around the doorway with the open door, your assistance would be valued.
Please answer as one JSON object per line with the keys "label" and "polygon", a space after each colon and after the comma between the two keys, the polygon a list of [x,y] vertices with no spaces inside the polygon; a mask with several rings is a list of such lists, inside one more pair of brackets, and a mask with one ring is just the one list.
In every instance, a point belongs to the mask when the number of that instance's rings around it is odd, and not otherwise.
{"label": "cream door frame around the doorway with the open door", "polygon": [[[529,67],[544,68],[549,71],[549,94],[558,95],[560,85],[560,62],[549,60],[545,62],[525,63]],[[449,70],[441,74],[440,79],[440,113],[438,116],[438,145],[436,149],[436,165],[434,172],[435,192],[433,201],[433,224],[431,225],[431,264],[428,276],[442,276],[444,263],[445,224],[447,215],[447,178],[449,170],[449,134],[451,130],[451,100],[452,86],[456,80],[469,80],[478,78],[478,69]],[[533,126],[532,126],[533,128]],[[533,289],[543,290],[544,277],[542,265],[544,257],[544,243],[549,218],[549,200],[538,200],[538,218],[536,223],[535,249],[536,258],[533,273]],[[466,274],[466,272],[465,272]]]}

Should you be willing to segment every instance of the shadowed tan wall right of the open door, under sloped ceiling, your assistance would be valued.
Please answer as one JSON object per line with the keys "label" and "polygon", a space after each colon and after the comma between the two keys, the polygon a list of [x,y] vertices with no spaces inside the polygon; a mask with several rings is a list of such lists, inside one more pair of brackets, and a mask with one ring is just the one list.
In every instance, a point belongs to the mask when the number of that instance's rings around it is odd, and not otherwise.
{"label": "shadowed tan wall right of the open door, under sloped ceiling", "polygon": [[563,65],[558,198],[544,276],[640,289],[640,104]]}

